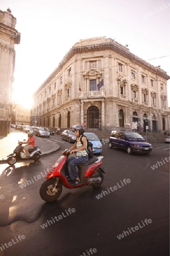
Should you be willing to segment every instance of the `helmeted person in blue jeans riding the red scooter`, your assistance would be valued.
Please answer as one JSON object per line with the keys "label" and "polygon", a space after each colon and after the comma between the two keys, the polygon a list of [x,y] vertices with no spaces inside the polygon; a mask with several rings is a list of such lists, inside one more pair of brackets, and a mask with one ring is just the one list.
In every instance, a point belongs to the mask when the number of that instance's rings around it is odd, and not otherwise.
{"label": "helmeted person in blue jeans riding the red scooter", "polygon": [[[76,185],[80,182],[76,166],[81,166],[82,164],[86,163],[88,161],[88,154],[86,151],[87,139],[83,136],[84,126],[74,125],[73,129],[76,134],[76,142],[72,147],[70,147],[70,154],[76,153],[76,156],[68,158],[67,161],[69,163],[70,180],[73,180],[72,185]],[[82,137],[83,144],[80,141],[80,137]]]}

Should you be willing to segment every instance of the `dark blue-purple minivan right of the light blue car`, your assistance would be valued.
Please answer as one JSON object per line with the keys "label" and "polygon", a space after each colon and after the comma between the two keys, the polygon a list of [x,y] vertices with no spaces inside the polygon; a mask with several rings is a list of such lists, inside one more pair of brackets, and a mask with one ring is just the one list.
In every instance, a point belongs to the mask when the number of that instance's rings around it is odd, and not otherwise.
{"label": "dark blue-purple minivan right of the light blue car", "polygon": [[128,154],[152,152],[152,145],[133,131],[112,131],[108,143],[109,148],[118,147],[126,150]]}

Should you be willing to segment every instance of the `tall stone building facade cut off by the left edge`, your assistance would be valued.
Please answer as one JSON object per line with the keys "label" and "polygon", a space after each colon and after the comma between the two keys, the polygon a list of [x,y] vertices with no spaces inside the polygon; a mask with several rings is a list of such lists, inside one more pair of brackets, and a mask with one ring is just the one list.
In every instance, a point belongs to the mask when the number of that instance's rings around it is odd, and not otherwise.
{"label": "tall stone building facade cut off by the left edge", "polygon": [[0,10],[0,134],[7,135],[11,121],[11,95],[14,81],[15,49],[20,43],[20,33],[15,29],[16,18]]}

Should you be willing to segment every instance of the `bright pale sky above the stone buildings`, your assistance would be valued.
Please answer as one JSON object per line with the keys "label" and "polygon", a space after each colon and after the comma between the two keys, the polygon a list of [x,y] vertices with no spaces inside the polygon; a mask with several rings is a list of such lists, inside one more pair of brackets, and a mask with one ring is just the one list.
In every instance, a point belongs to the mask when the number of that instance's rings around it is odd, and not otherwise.
{"label": "bright pale sky above the stone buildings", "polygon": [[[0,0],[21,34],[15,45],[14,98],[32,94],[80,39],[106,36],[170,76],[170,0]],[[25,97],[26,96],[26,97]],[[170,106],[170,81],[168,81]]]}

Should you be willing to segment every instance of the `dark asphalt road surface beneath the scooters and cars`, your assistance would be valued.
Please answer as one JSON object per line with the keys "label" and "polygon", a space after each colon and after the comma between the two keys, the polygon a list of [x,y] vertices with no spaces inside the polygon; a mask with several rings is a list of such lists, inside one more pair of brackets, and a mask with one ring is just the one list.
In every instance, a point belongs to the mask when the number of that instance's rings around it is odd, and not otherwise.
{"label": "dark asphalt road surface beneath the scooters and cars", "polygon": [[[102,187],[63,188],[55,203],[42,201],[39,188],[68,142],[37,165],[6,170],[1,164],[0,256],[168,256],[169,144],[152,144],[149,155],[128,155],[105,144]],[[22,188],[25,180],[30,182]]]}

